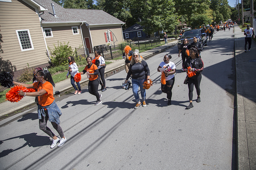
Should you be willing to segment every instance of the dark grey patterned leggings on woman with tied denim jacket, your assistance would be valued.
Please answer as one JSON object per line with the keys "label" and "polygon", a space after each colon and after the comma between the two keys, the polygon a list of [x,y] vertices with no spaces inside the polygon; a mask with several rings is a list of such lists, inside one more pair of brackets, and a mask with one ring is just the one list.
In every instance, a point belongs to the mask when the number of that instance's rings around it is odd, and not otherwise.
{"label": "dark grey patterned leggings on woman with tied denim jacket", "polygon": [[[47,121],[49,119],[48,111],[44,110],[44,113],[45,113],[45,117],[41,114],[42,119],[39,119],[39,128],[41,130],[43,130],[50,137],[54,137],[55,135],[52,132],[52,130],[46,126]],[[60,138],[64,137],[64,134],[63,134],[63,131],[62,131],[60,125],[58,125],[55,122],[51,122],[51,123],[52,123],[53,128],[59,133]]]}

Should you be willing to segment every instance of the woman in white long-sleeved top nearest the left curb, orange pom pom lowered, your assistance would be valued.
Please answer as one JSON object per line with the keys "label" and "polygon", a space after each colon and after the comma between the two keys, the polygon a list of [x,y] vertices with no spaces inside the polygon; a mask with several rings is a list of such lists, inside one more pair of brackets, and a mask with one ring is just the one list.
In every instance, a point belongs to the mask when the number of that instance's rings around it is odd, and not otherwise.
{"label": "woman in white long-sleeved top nearest the left curb, orange pom pom lowered", "polygon": [[68,75],[70,74],[70,81],[71,81],[71,85],[74,87],[74,89],[76,90],[74,94],[81,94],[81,86],[79,82],[76,82],[77,87],[78,87],[78,91],[75,85],[75,80],[74,77],[76,75],[76,73],[78,72],[78,67],[76,65],[75,59],[73,56],[69,56],[68,57],[68,74],[66,76],[66,78],[68,78]]}

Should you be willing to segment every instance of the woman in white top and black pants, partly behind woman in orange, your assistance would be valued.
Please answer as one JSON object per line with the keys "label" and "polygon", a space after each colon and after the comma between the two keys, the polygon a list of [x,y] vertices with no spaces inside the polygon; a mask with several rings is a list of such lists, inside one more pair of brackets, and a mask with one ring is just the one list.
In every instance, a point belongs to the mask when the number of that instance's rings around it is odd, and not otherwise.
{"label": "woman in white top and black pants, partly behind woman in orange", "polygon": [[100,65],[98,66],[99,72],[100,72],[100,78],[102,80],[102,82],[100,81],[100,85],[101,85],[101,92],[105,92],[107,90],[106,88],[106,81],[104,78],[104,74],[105,74],[105,59],[100,55],[100,51],[99,50],[95,50],[94,52],[94,59],[95,60],[100,60]]}

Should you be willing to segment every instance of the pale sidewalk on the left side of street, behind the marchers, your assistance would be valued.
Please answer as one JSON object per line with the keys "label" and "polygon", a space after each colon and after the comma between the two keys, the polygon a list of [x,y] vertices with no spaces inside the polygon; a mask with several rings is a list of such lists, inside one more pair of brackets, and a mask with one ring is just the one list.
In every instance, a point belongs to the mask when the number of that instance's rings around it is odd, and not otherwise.
{"label": "pale sidewalk on the left side of street, behind the marchers", "polygon": [[[146,59],[148,57],[151,57],[157,53],[160,53],[162,51],[165,51],[168,48],[173,47],[175,44],[177,44],[178,40],[170,42],[168,45],[162,45],[153,49],[150,49],[148,51],[140,53],[140,55]],[[107,65],[105,69],[105,77],[109,77],[121,70],[124,70],[124,59],[121,60],[110,60],[113,63],[110,63]],[[84,79],[85,78],[85,79]],[[82,81],[80,81],[81,87],[88,84],[89,79],[87,76],[82,76]],[[68,92],[69,90],[74,90],[73,86],[70,83],[70,78],[63,80],[59,83],[55,84],[55,88],[53,88],[53,94],[54,97],[58,97],[61,94]],[[74,90],[75,91],[75,90]],[[5,101],[3,103],[0,103],[0,116],[8,115],[10,113],[16,112],[24,107],[28,107],[31,104],[35,104],[35,97],[26,96],[23,99],[21,99],[19,102],[12,103],[9,101]]]}

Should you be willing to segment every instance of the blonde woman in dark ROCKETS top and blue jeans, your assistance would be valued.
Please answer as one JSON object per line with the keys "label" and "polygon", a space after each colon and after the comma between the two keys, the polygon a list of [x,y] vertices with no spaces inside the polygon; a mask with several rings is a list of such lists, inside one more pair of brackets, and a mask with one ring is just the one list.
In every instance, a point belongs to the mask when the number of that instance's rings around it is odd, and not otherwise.
{"label": "blonde woman in dark ROCKETS top and blue jeans", "polygon": [[140,87],[140,94],[142,98],[142,107],[146,107],[146,89],[143,88],[143,83],[145,80],[150,83],[150,71],[148,68],[148,64],[144,59],[141,58],[139,50],[134,50],[132,54],[132,60],[129,68],[129,72],[127,73],[125,83],[127,83],[128,79],[132,75],[132,92],[136,100],[136,106],[134,107],[137,109],[140,105],[140,96],[139,96],[139,87]]}

